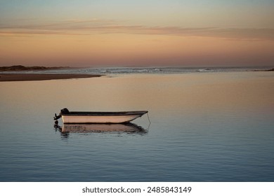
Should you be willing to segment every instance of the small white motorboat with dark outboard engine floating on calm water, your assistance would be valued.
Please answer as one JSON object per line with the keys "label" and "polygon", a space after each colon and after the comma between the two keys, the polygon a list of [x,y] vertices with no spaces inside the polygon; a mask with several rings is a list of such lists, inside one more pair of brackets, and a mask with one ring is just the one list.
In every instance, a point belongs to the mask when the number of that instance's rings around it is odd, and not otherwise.
{"label": "small white motorboat with dark outboard engine floating on calm water", "polygon": [[59,116],[54,117],[54,120],[62,117],[63,123],[129,123],[145,113],[148,111],[99,112],[62,109]]}

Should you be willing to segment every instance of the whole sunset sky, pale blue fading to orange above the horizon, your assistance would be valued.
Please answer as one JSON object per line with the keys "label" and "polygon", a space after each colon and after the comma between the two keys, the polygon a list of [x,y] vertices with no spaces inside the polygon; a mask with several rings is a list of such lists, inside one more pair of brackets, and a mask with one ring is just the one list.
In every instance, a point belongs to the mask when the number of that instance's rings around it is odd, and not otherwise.
{"label": "whole sunset sky, pale blue fading to orange above the horizon", "polygon": [[274,66],[273,0],[0,0],[0,66]]}

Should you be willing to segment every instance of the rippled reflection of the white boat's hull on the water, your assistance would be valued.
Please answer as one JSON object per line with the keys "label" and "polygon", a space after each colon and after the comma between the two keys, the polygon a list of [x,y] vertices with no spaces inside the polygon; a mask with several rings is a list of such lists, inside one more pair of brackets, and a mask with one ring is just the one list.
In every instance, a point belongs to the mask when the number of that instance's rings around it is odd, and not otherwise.
{"label": "rippled reflection of the white boat's hull on the water", "polygon": [[133,123],[126,124],[64,124],[58,128],[63,136],[70,133],[147,134],[148,130]]}

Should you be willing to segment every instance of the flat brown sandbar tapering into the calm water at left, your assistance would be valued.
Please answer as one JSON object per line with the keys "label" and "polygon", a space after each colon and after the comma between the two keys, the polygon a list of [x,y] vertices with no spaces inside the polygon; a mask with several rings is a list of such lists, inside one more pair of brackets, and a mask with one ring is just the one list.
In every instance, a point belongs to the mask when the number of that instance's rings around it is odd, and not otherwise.
{"label": "flat brown sandbar tapering into the calm water at left", "polygon": [[30,80],[58,80],[58,79],[93,78],[93,77],[100,77],[100,75],[1,73],[0,74],[0,82],[4,82],[4,81],[30,81]]}

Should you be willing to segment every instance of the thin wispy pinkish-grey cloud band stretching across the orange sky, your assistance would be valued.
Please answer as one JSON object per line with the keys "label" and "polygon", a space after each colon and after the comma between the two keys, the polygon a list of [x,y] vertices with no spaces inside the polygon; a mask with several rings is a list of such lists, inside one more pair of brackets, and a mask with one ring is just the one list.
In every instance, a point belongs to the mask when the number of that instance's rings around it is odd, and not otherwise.
{"label": "thin wispy pinkish-grey cloud band stretching across the orange sky", "polygon": [[183,28],[120,25],[115,20],[66,20],[46,24],[1,25],[0,36],[32,34],[149,34],[173,36],[206,36],[250,40],[274,40],[274,29],[267,28]]}

